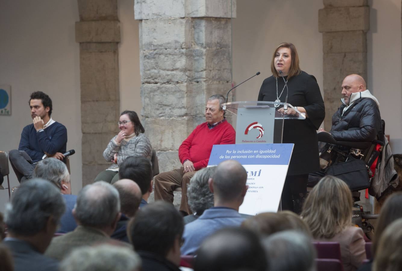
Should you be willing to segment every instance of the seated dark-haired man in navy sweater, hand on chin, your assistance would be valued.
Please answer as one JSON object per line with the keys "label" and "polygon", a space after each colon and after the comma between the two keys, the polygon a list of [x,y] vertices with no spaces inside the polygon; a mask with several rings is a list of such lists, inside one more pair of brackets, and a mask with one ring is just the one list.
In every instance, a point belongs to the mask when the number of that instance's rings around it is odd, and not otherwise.
{"label": "seated dark-haired man in navy sweater, hand on chin", "polygon": [[18,150],[8,153],[20,183],[32,178],[36,162],[48,157],[63,160],[67,148],[66,127],[50,117],[50,97],[41,91],[33,92],[29,107],[33,123],[24,127]]}

